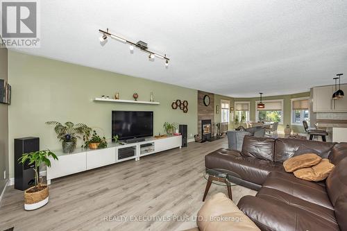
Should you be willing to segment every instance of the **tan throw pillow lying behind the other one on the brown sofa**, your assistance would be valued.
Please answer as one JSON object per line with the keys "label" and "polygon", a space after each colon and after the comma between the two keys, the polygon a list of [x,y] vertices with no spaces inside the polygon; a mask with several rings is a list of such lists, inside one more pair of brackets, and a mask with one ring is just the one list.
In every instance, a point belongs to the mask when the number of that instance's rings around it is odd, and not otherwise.
{"label": "tan throw pillow lying behind the other one on the brown sofa", "polygon": [[298,169],[307,168],[314,166],[321,162],[322,158],[314,153],[306,153],[303,155],[297,155],[295,157],[290,157],[288,160],[283,162],[285,171],[291,173]]}

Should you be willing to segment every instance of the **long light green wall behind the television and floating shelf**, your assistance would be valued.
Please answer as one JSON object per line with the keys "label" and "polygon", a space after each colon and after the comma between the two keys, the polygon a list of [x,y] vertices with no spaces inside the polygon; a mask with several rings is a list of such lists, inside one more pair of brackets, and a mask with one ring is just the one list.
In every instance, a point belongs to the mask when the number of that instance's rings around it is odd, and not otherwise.
{"label": "long light green wall behind the television and floating shelf", "polygon": [[[165,121],[188,125],[188,139],[197,134],[197,90],[135,78],[110,71],[69,64],[15,51],[8,52],[9,82],[12,85],[12,103],[9,107],[9,163],[10,178],[13,169],[13,139],[27,136],[40,137],[40,149],[61,148],[56,133],[46,121],[86,123],[101,135],[111,137],[112,110],[148,110],[154,112],[155,135],[164,133]],[[101,95],[119,92],[120,99],[154,100],[160,105],[94,102]],[[171,109],[171,103],[180,99],[189,102],[189,110]],[[190,136],[192,134],[192,137]]]}

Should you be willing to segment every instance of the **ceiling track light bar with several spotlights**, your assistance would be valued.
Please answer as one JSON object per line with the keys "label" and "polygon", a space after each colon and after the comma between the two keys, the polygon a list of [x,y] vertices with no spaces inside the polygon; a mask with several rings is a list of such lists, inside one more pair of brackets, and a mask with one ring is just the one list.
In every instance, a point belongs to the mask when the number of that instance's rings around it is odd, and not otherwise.
{"label": "ceiling track light bar with several spotlights", "polygon": [[137,49],[139,49],[140,51],[144,51],[146,53],[149,53],[149,60],[154,61],[154,57],[157,58],[161,58],[163,60],[165,60],[165,67],[169,67],[169,58],[167,58],[167,55],[160,55],[158,53],[155,53],[153,51],[149,51],[146,42],[142,42],[139,41],[137,43],[135,42],[131,42],[129,40],[124,39],[123,37],[119,37],[117,35],[113,35],[112,33],[108,32],[108,28],[106,31],[103,31],[101,29],[99,29],[99,33],[102,33],[103,35],[99,38],[100,42],[103,42],[105,40],[107,40],[108,37],[111,37],[114,40],[117,40],[119,42],[123,42],[125,44],[129,44],[129,49],[130,49],[130,53],[133,53],[134,48],[136,47]]}

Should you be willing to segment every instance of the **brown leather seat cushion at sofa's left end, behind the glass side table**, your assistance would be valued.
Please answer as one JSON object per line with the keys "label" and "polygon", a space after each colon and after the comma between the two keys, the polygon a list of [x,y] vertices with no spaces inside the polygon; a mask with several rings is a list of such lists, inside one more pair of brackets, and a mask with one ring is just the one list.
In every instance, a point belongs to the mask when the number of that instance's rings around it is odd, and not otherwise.
{"label": "brown leather seat cushion at sofa's left end, behind the glass side table", "polygon": [[220,148],[205,155],[205,167],[207,169],[232,171],[241,176],[242,180],[247,180],[257,185],[262,185],[271,171],[285,171],[281,163],[247,157],[237,151],[230,151],[226,148]]}

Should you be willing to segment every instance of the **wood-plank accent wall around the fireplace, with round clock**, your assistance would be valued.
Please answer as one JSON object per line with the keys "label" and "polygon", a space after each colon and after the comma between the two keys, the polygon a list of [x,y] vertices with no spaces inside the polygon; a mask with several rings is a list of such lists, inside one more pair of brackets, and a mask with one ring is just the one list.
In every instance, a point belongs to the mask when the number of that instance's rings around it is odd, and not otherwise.
{"label": "wood-plank accent wall around the fireplace, with round clock", "polygon": [[[210,105],[203,104],[203,96],[210,96]],[[214,94],[198,91],[198,135],[201,139],[201,120],[210,119],[212,123],[212,136],[214,135]]]}

